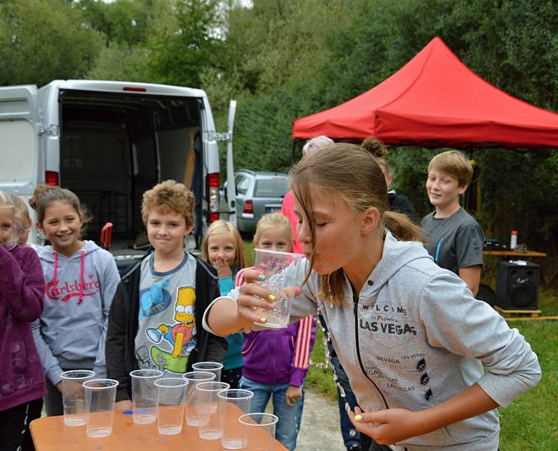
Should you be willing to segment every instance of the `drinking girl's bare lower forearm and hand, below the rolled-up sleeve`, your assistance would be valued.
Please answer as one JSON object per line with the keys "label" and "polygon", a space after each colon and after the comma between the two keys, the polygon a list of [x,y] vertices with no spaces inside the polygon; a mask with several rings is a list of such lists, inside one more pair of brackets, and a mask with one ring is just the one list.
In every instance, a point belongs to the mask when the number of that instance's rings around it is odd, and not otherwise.
{"label": "drinking girl's bare lower forearm and hand, below the rolled-up sleeve", "polygon": [[374,438],[381,445],[392,445],[481,415],[497,407],[498,404],[481,386],[474,383],[459,395],[423,411],[389,408],[376,412],[367,409],[366,412],[362,412],[356,407],[354,413],[349,411],[349,418],[361,433]]}

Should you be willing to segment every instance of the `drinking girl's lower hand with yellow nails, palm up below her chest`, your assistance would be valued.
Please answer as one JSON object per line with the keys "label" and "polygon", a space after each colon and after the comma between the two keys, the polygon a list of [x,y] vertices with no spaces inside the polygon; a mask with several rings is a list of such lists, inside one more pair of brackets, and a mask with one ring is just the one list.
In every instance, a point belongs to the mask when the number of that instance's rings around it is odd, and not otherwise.
{"label": "drinking girl's lower hand with yellow nails, palm up below her chest", "polygon": [[[428,427],[423,427],[420,417],[421,412],[408,411],[405,408],[389,408],[384,411],[372,412],[369,408],[365,412],[357,406],[347,412],[349,419],[357,431],[374,438],[380,445],[393,445],[393,443],[416,437],[430,432]],[[359,421],[356,421],[356,418]]]}

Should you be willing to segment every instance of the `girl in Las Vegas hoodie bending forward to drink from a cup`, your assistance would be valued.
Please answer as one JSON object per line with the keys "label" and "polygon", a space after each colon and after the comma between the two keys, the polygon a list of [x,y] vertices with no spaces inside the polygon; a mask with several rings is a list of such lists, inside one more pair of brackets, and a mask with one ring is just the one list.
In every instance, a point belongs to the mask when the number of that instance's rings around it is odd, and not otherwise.
{"label": "girl in Las Vegas hoodie bending forward to drink from a cup", "polygon": [[[323,148],[290,183],[307,257],[287,268],[291,321],[324,316],[364,408],[349,417],[370,450],[497,450],[497,407],[541,378],[524,337],[434,263],[418,227],[387,211],[382,170],[363,149]],[[206,310],[204,327],[227,335],[264,323],[257,309],[273,299],[245,284]]]}

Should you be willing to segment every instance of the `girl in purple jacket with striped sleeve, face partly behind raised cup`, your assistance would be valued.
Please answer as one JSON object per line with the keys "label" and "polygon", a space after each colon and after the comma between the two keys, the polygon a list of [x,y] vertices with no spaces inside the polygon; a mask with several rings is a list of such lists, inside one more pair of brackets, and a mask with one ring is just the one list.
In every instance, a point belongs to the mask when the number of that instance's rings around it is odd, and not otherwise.
{"label": "girl in purple jacket with striped sleeve, face partly behind raised cup", "polygon": [[[254,235],[258,249],[292,250],[289,220],[280,213],[263,215]],[[244,283],[243,271],[236,286]],[[296,447],[304,404],[303,385],[316,339],[316,317],[306,318],[279,330],[260,330],[244,336],[240,387],[254,392],[252,413],[264,412],[273,395],[273,413],[278,416],[276,439],[290,451]]]}

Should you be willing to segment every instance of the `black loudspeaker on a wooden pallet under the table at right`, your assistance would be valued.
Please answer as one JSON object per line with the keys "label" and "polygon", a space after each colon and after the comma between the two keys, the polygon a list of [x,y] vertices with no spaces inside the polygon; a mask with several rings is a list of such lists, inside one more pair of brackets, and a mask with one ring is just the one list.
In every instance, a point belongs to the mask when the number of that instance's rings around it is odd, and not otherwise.
{"label": "black loudspeaker on a wooden pallet under the table at right", "polygon": [[499,261],[496,274],[496,305],[506,310],[536,310],[538,265]]}

